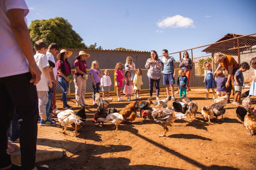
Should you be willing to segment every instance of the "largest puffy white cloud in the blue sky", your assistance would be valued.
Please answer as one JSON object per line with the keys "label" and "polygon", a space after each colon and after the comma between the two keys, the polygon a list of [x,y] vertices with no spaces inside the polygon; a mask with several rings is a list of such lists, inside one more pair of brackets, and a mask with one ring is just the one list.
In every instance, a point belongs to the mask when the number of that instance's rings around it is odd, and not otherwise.
{"label": "largest puffy white cloud in the blue sky", "polygon": [[157,23],[160,28],[195,28],[194,21],[190,18],[183,17],[181,15],[175,15],[173,17],[168,17]]}

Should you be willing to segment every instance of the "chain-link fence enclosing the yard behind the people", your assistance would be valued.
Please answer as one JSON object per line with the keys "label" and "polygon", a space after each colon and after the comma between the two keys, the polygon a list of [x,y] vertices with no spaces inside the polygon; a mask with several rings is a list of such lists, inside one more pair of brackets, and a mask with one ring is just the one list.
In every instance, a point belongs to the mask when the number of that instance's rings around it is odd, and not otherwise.
{"label": "chain-link fence enclosing the yard behind the people", "polygon": [[[227,34],[218,42],[203,45],[200,47],[190,48],[183,51],[178,51],[174,53],[169,53],[170,56],[173,56],[176,62],[176,68],[179,68],[179,62],[181,58],[183,58],[183,53],[185,51],[188,52],[189,57],[192,59],[193,68],[191,70],[191,77],[190,77],[190,87],[197,88],[197,87],[204,87],[204,69],[203,63],[205,61],[209,61],[212,64],[213,69],[217,68],[218,63],[214,64],[213,62],[213,55],[215,52],[222,52],[227,55],[232,55],[235,60],[240,64],[240,62],[250,62],[252,57],[256,56],[256,33],[242,36],[242,35],[235,35],[235,34]],[[230,39],[231,38],[231,39]],[[223,40],[223,41],[222,41]],[[146,61],[145,61],[146,63]],[[110,93],[115,93],[115,78],[114,78],[114,69],[109,69],[109,76],[111,78],[112,85],[110,87]],[[178,70],[178,69],[177,69]],[[87,70],[89,71],[89,70]],[[74,74],[74,70],[72,70]],[[104,69],[102,69],[104,72]],[[244,72],[245,82],[246,77],[251,77],[253,70]],[[125,73],[125,70],[123,71]],[[247,76],[248,74],[248,76]],[[178,74],[177,74],[178,75]],[[175,82],[177,82],[178,76],[175,77]],[[142,81],[143,86],[141,86],[141,91],[148,91],[149,90],[149,81],[147,76],[147,69],[142,69]],[[125,85],[125,83],[123,83]],[[177,87],[177,84],[175,84]],[[122,88],[123,89],[123,88]],[[163,76],[160,79],[160,89],[165,89],[165,85],[163,85]],[[61,87],[57,85],[57,92],[58,95],[62,93]],[[70,93],[69,95],[75,94],[75,86],[74,82],[70,83]],[[86,94],[92,94],[92,81],[89,76],[88,80],[86,81]]]}

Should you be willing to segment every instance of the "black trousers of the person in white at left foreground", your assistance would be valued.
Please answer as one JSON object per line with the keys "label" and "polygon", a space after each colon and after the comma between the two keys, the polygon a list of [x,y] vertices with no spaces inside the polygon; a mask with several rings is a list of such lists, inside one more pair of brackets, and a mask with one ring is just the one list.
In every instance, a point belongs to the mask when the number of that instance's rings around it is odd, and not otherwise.
{"label": "black trousers of the person in white at left foreground", "polygon": [[11,164],[10,155],[6,153],[7,133],[15,111],[20,123],[22,169],[35,167],[39,110],[36,86],[29,82],[31,78],[30,72],[0,78],[0,168]]}

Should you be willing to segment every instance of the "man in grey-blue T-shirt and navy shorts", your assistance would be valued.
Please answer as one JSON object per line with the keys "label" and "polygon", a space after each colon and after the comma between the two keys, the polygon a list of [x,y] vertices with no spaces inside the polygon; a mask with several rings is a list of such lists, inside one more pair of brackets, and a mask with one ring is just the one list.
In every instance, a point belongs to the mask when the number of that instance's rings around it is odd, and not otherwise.
{"label": "man in grey-blue T-shirt and navy shorts", "polygon": [[170,85],[171,85],[171,90],[172,90],[172,97],[171,100],[174,99],[174,84],[175,84],[175,79],[174,77],[176,76],[176,66],[175,66],[175,59],[172,56],[168,55],[168,50],[163,49],[162,51],[163,58],[163,84],[166,85],[166,92],[167,92],[167,98],[170,96]]}

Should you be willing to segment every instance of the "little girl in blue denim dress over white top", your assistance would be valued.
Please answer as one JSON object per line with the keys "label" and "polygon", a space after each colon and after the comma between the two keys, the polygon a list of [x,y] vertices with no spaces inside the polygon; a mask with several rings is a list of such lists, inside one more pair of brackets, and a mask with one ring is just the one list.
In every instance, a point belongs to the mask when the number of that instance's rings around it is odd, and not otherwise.
{"label": "little girl in blue denim dress over white top", "polygon": [[211,64],[209,62],[204,63],[204,84],[205,88],[207,89],[206,97],[205,99],[209,99],[209,93],[210,89],[212,89],[213,98],[215,99],[215,88],[216,88],[216,82],[213,78],[213,69],[211,69]]}

